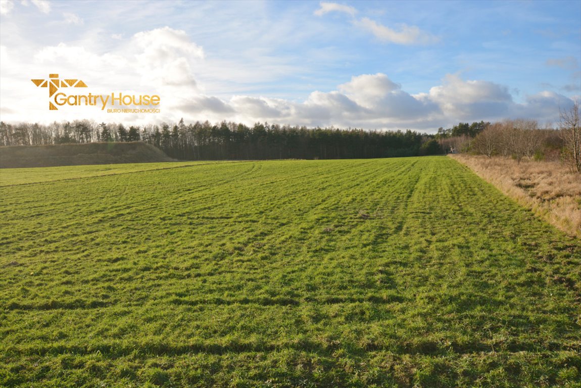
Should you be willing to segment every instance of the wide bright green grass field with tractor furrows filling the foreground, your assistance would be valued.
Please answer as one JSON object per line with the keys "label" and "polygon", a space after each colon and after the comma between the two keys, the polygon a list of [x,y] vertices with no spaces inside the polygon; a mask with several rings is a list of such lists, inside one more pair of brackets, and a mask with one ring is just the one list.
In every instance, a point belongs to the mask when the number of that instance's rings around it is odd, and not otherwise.
{"label": "wide bright green grass field with tractor furrows filling the foreground", "polygon": [[0,386],[580,386],[581,241],[455,160],[109,167],[0,171]]}

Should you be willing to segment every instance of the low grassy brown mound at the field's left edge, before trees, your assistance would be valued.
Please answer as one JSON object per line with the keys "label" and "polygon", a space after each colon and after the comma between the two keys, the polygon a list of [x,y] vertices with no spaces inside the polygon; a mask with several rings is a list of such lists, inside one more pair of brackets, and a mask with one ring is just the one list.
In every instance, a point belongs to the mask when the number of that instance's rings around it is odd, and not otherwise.
{"label": "low grassy brown mound at the field's left edge, before trees", "polygon": [[171,160],[173,159],[162,150],[142,142],[0,147],[0,168],[148,163]]}

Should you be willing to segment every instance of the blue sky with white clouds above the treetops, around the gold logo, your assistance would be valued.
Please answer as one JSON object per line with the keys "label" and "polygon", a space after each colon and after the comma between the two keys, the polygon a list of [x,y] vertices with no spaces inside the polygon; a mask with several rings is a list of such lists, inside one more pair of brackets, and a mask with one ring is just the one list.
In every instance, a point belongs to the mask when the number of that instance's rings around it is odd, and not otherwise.
{"label": "blue sky with white clouds above the treetops, around the gold logo", "polygon": [[[49,110],[56,94],[31,81],[49,74],[87,85],[60,87],[59,102],[90,92],[160,103]],[[0,0],[9,123],[184,118],[434,133],[507,118],[555,126],[579,98],[581,1]]]}

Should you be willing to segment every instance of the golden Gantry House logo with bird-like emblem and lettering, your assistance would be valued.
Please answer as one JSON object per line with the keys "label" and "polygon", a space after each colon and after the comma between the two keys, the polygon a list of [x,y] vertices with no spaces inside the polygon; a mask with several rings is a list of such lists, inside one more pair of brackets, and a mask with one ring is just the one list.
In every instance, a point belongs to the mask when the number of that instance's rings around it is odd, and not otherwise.
{"label": "golden Gantry House logo with bird-like emblem and lettering", "polygon": [[[59,74],[49,74],[48,80],[31,80],[37,87],[48,88],[48,109],[59,110],[57,106],[96,106],[105,110],[107,106],[118,106],[121,109],[107,109],[107,113],[159,113],[159,95],[124,95],[110,94],[66,94],[59,88],[87,88],[87,84],[78,79],[59,80]],[[57,93],[58,92],[58,93]],[[133,108],[126,109],[132,106]],[[137,108],[137,109],[136,109]]]}

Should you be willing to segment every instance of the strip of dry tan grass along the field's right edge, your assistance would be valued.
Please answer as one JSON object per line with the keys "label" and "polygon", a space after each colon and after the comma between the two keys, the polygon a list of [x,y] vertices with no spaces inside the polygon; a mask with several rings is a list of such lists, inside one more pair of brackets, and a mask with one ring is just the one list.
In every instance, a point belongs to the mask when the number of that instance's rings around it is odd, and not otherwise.
{"label": "strip of dry tan grass along the field's right edge", "polygon": [[556,161],[450,156],[555,227],[581,238],[581,174]]}

